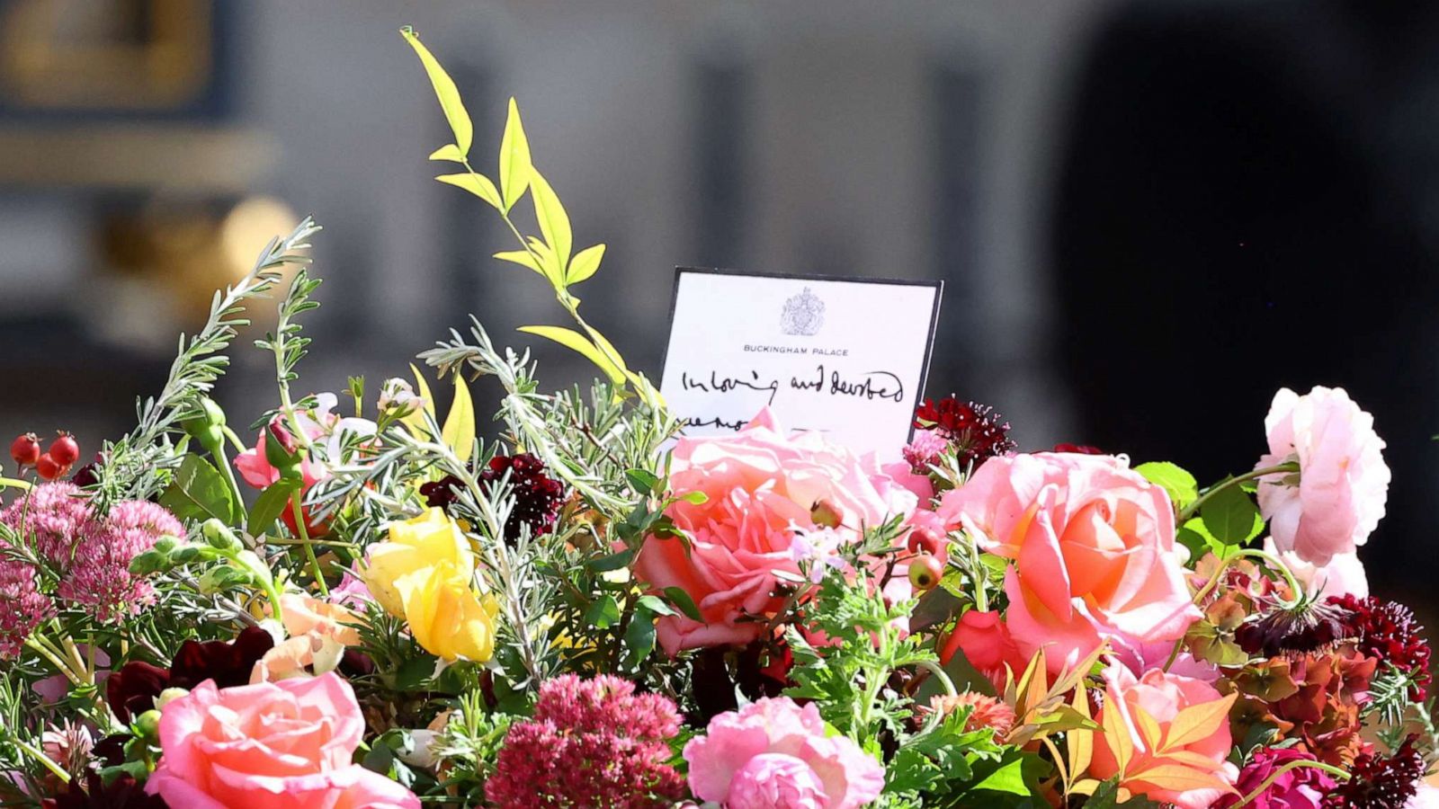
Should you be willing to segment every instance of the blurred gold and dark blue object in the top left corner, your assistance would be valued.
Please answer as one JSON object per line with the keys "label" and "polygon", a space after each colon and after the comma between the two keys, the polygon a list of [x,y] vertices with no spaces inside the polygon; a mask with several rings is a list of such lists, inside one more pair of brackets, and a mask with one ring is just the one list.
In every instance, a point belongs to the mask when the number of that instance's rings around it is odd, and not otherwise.
{"label": "blurred gold and dark blue object in the top left corner", "polygon": [[0,4],[0,94],[36,109],[167,109],[214,72],[212,0]]}

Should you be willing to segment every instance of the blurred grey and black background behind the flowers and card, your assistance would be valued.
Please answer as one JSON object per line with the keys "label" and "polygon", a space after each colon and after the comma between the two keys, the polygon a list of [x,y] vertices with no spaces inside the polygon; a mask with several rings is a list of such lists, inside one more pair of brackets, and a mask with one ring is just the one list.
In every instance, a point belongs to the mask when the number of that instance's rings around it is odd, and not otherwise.
{"label": "blurred grey and black background behind the flowers and card", "polygon": [[[1361,559],[1433,620],[1439,12],[1353,0],[0,0],[0,430],[94,449],[210,291],[304,213],[302,390],[377,386],[475,312],[561,322],[448,134],[414,24],[498,147],[519,99],[581,292],[658,373],[672,268],[944,278],[930,393],[1059,440],[1252,466],[1279,386],[1377,419]],[[492,158],[482,158],[488,167]],[[256,312],[256,330],[266,312]],[[236,422],[273,397],[235,348]],[[485,390],[481,389],[481,406]],[[9,435],[6,433],[6,435]]]}

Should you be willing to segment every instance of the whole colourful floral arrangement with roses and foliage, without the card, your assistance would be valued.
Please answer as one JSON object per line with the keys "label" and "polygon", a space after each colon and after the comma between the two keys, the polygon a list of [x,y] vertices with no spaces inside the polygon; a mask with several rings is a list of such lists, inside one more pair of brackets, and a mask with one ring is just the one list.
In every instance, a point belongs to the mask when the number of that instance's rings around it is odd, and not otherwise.
{"label": "whole colourful floral arrangement with roses and foliage, without the card", "polygon": [[[597,381],[545,393],[475,322],[374,396],[298,396],[318,227],[272,242],[94,464],[72,472],[68,435],[12,445],[7,806],[1435,803],[1430,651],[1367,592],[1389,469],[1343,390],[1281,390],[1268,446],[1206,488],[1019,452],[957,397],[891,465],[767,412],[685,438],[580,315],[604,246],[574,250],[518,108],[496,184],[404,36],[455,134],[439,180],[574,325],[522,331]],[[210,392],[278,291],[276,404],[246,440]]]}

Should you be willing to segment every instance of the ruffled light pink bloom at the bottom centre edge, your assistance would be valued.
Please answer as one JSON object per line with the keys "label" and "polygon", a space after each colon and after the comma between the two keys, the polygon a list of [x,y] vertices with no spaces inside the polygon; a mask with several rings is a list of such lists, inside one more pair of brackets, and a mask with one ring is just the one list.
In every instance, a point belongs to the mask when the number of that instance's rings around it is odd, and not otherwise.
{"label": "ruffled light pink bloom at the bottom centre edge", "polygon": [[695,797],[737,809],[853,809],[885,787],[879,761],[845,736],[826,736],[819,707],[789,697],[714,717],[705,736],[685,744],[685,760]]}

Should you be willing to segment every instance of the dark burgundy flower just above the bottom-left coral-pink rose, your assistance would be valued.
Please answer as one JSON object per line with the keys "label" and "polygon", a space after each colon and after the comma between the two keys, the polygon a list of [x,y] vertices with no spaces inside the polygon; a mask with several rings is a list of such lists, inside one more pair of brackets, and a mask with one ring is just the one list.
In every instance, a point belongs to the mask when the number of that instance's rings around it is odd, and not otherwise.
{"label": "dark burgundy flower just above the bottom-left coral-pink rose", "polygon": [[248,626],[235,641],[186,641],[168,669],[131,661],[109,675],[105,697],[119,721],[155,707],[165,688],[194,688],[213,679],[219,688],[246,685],[250,671],[275,648],[275,639],[259,626]]}

